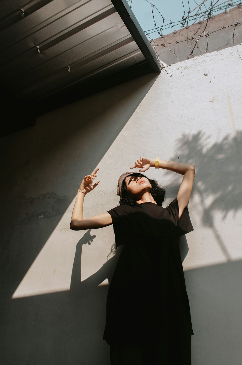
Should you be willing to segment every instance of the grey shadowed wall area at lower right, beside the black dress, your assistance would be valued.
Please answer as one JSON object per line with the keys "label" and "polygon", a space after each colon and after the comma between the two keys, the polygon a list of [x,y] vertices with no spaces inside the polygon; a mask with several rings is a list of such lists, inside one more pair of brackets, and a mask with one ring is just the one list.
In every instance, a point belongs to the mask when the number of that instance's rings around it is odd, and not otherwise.
{"label": "grey shadowed wall area at lower right, beside the black dress", "polygon": [[186,271],[191,308],[192,364],[240,364],[242,261]]}

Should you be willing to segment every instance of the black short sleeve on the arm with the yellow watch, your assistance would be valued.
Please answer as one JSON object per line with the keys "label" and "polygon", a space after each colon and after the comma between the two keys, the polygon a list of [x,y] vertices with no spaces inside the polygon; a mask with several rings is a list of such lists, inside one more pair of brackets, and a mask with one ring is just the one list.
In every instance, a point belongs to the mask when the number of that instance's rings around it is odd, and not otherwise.
{"label": "black short sleeve on the arm with the yellow watch", "polygon": [[188,208],[185,207],[183,213],[179,219],[179,206],[177,198],[175,198],[166,208],[169,213],[173,216],[177,223],[176,234],[180,237],[186,233],[192,232],[194,230],[192,222],[189,216]]}

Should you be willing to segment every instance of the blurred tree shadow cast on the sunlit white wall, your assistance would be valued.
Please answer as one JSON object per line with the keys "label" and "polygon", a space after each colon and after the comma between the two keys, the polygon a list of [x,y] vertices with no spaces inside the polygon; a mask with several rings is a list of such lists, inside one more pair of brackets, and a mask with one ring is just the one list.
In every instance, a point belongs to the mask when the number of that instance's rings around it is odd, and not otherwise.
{"label": "blurred tree shadow cast on the sunlit white wall", "polygon": [[[211,228],[224,256],[230,261],[230,254],[219,234],[219,227],[216,226],[216,216],[220,213],[224,220],[230,212],[235,214],[242,207],[242,131],[238,131],[234,137],[226,135],[214,144],[210,143],[210,138],[210,135],[202,131],[182,135],[174,147],[177,154],[170,159],[196,166],[192,196],[196,196],[196,201],[199,200],[198,210],[202,214],[202,224]],[[166,177],[170,174],[174,178],[173,173],[165,172]],[[196,213],[193,208],[193,214],[194,212]]]}

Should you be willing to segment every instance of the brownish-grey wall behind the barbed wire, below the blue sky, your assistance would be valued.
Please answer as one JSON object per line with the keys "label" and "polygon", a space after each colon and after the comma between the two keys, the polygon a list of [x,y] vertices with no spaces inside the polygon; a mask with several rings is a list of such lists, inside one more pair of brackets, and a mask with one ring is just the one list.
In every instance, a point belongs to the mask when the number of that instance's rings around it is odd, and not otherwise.
{"label": "brownish-grey wall behind the barbed wire, below the blue sky", "polygon": [[[235,27],[235,24],[238,26]],[[187,28],[182,28],[170,34],[154,39],[155,50],[160,59],[167,65],[185,61],[189,56],[195,43],[197,46],[193,50],[193,55],[219,51],[227,47],[242,43],[242,7],[226,10],[211,19],[205,19],[199,23],[192,24]],[[207,27],[205,28],[207,24]],[[221,28],[223,27],[223,30]],[[205,30],[204,30],[205,29]],[[205,32],[205,37],[203,32]],[[234,36],[234,37],[233,37]],[[187,38],[193,41],[188,41]]]}

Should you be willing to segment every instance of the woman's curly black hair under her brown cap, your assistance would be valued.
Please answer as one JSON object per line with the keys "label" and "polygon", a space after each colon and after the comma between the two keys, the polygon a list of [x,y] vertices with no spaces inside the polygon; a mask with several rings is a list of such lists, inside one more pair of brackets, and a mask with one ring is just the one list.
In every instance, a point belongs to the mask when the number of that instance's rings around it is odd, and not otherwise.
{"label": "woman's curly black hair under her brown cap", "polygon": [[[157,203],[157,205],[159,205],[160,207],[162,206],[162,203],[165,199],[165,189],[162,188],[156,180],[154,179],[150,179],[149,177],[143,175],[143,174],[139,174],[139,173],[131,173],[130,176],[141,176],[141,177],[146,177],[150,184],[151,184],[151,195],[153,196],[155,202]],[[122,183],[122,187],[121,187],[121,195],[122,198],[119,200],[119,205],[123,205],[123,204],[127,204],[127,205],[131,205],[131,207],[134,207],[135,205],[138,205],[136,203],[136,200],[134,198],[134,196],[131,193],[127,192],[127,185],[126,185],[126,181],[125,179],[123,180]]]}

